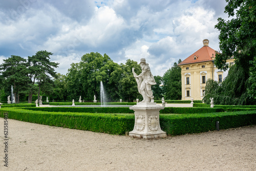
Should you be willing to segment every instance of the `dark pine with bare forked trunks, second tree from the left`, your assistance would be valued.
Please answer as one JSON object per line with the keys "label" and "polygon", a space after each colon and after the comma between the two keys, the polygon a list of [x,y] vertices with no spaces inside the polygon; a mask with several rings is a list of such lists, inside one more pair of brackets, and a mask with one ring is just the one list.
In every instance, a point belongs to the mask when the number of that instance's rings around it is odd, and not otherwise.
{"label": "dark pine with bare forked trunks, second tree from the left", "polygon": [[47,51],[38,51],[32,57],[28,56],[28,64],[29,64],[29,77],[31,84],[31,91],[29,92],[29,100],[28,102],[32,102],[32,90],[34,89],[34,84],[37,81],[38,84],[38,93],[37,98],[39,101],[40,89],[44,82],[49,82],[51,77],[55,78],[56,72],[54,68],[58,67],[57,62],[50,61],[51,52]]}

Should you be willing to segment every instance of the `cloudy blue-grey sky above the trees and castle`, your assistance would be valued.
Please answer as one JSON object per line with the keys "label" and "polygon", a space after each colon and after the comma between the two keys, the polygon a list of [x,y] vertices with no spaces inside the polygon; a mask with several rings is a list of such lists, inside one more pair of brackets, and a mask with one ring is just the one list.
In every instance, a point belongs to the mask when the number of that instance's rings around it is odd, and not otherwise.
{"label": "cloudy blue-grey sky above the trees and castle", "polygon": [[114,62],[146,58],[153,75],[197,51],[202,40],[219,50],[214,28],[225,0],[9,0],[0,2],[0,63],[18,55],[52,52],[66,74],[90,52]]}

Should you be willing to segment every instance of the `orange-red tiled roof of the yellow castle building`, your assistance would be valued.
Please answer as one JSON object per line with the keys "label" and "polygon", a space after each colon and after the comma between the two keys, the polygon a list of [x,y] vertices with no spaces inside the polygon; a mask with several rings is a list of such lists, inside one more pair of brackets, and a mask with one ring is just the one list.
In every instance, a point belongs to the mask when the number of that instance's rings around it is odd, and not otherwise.
{"label": "orange-red tiled roof of the yellow castle building", "polygon": [[[214,54],[214,57],[215,57],[215,50],[211,49],[208,46],[204,46],[201,49],[199,49],[197,52],[193,53],[192,55],[184,59],[182,62],[180,62],[178,66],[185,65],[188,63],[211,61],[212,54]],[[194,59],[195,55],[197,56],[197,59]]]}

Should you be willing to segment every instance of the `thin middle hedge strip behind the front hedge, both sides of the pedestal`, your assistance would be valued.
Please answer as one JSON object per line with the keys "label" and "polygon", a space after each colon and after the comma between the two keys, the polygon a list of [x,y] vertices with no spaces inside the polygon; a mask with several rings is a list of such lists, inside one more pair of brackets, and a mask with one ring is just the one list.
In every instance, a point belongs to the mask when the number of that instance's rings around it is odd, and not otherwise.
{"label": "thin middle hedge strip behind the front hedge, both sides of the pedestal", "polygon": [[[51,108],[30,108],[33,111],[48,112],[83,112],[83,113],[134,113],[128,107],[106,107],[106,108],[79,108],[79,107],[51,107]],[[173,108],[166,107],[160,110],[160,114],[194,114],[194,113],[212,113],[224,112],[223,108]]]}

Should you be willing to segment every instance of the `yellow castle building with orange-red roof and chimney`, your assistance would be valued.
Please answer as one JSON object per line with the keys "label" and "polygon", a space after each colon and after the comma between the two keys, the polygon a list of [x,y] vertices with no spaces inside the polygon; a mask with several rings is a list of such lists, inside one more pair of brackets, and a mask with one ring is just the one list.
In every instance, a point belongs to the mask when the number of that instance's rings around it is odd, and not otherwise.
{"label": "yellow castle building with orange-red roof and chimney", "polygon": [[[216,50],[211,49],[209,40],[203,40],[203,47],[188,56],[178,64],[181,68],[182,100],[202,100],[207,79],[222,82],[227,76],[227,71],[222,71],[214,65]],[[226,61],[229,66],[234,64],[234,59]]]}

